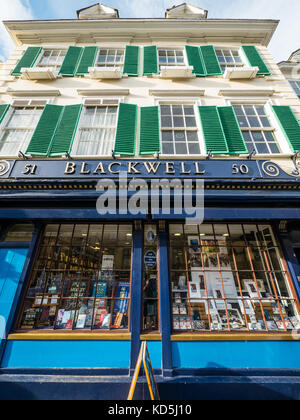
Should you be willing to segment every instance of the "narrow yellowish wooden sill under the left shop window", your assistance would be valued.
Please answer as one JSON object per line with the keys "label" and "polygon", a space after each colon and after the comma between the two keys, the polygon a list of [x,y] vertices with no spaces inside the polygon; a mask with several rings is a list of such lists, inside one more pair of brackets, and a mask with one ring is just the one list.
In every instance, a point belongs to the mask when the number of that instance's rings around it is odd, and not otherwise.
{"label": "narrow yellowish wooden sill under the left shop window", "polygon": [[29,331],[10,334],[8,341],[130,341],[131,333],[120,331]]}

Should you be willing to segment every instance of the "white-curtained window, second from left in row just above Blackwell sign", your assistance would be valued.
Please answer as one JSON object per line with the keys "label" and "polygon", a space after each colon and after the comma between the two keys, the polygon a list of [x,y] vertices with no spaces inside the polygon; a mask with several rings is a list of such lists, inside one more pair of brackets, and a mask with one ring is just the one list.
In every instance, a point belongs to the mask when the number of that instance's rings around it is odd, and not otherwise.
{"label": "white-curtained window, second from left in row just above Blackwell sign", "polygon": [[[78,139],[73,154],[77,156],[111,156],[116,137],[118,100],[105,100],[99,106],[85,106],[82,110]],[[116,103],[116,105],[113,104]]]}

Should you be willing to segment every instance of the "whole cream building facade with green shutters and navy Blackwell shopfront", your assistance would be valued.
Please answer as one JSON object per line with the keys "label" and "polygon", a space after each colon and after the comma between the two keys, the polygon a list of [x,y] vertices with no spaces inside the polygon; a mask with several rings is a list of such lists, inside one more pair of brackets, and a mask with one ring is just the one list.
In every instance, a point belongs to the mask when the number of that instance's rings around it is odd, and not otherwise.
{"label": "whole cream building facade with green shutters and navy Blackwell shopfront", "polygon": [[297,398],[300,103],[277,25],[188,4],[5,22],[0,395],[126,398],[147,341],[163,398]]}

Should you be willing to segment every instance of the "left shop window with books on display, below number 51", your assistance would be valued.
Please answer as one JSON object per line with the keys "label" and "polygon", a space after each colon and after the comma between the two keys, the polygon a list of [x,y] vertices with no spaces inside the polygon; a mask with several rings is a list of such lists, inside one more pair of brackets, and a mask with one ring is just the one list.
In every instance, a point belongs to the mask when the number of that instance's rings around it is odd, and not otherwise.
{"label": "left shop window with books on display, below number 51", "polygon": [[127,330],[131,253],[131,225],[47,225],[18,328]]}

